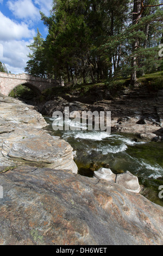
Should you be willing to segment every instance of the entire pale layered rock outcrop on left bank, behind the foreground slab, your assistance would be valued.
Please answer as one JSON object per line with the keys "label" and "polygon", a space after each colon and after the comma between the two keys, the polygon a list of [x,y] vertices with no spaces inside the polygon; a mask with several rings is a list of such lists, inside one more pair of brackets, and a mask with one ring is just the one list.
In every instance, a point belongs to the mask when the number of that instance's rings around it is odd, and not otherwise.
{"label": "entire pale layered rock outcrop on left bank, behind the foreground slab", "polygon": [[46,126],[32,106],[0,95],[0,166],[28,164],[77,173],[73,148],[41,129]]}

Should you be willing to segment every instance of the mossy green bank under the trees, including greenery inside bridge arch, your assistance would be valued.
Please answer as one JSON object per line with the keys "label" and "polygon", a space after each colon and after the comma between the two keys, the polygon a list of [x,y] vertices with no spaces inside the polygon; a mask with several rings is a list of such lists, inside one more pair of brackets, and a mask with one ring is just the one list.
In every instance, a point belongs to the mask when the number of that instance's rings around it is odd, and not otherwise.
{"label": "mossy green bank under the trees, including greenery inside bridge arch", "polygon": [[[158,71],[152,74],[139,77],[137,79],[140,87],[146,87],[149,90],[163,89],[163,72]],[[37,102],[45,102],[53,99],[54,97],[61,97],[63,95],[78,95],[86,96],[98,90],[109,90],[110,94],[114,97],[117,92],[123,89],[132,88],[130,86],[130,78],[115,77],[108,81],[101,81],[98,83],[65,84],[65,87],[54,87],[45,90],[41,96],[36,96],[32,90],[25,86],[18,86],[10,93],[11,97],[18,97],[20,99],[32,100],[36,99]]]}

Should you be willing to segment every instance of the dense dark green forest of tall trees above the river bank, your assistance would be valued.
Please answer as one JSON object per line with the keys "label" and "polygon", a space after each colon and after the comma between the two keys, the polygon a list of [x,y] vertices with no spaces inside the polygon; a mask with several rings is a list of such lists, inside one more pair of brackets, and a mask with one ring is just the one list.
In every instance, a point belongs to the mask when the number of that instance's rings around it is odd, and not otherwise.
{"label": "dense dark green forest of tall trees above the river bank", "polygon": [[163,1],[54,0],[41,20],[25,71],[67,82],[88,83],[137,77],[163,69]]}

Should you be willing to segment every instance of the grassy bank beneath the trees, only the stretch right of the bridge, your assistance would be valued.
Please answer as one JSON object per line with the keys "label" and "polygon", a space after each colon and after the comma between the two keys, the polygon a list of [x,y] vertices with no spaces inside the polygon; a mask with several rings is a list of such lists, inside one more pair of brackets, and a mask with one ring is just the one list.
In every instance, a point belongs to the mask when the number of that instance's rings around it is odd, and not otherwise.
{"label": "grassy bank beneath the trees, only the stretch right of the bridge", "polygon": [[[146,87],[149,90],[159,90],[163,89],[163,72],[155,72],[152,74],[147,74],[145,76],[137,78],[137,82],[140,87]],[[111,95],[126,89],[132,88],[130,85],[130,78],[116,77],[108,81],[101,81],[98,83],[88,83],[88,84],[76,84],[72,86],[65,84],[65,87],[55,87],[52,89],[47,89],[43,92],[44,97],[62,96],[62,95],[80,95],[85,96],[87,94],[91,95],[91,92],[95,92],[97,89],[109,90]]]}

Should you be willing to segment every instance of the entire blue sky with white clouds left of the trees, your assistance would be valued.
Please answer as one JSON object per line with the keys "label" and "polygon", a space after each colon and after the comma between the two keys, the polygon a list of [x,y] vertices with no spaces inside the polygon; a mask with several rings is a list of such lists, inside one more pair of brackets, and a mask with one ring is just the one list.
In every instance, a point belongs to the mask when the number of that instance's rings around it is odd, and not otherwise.
{"label": "entire blue sky with white clouds left of the trees", "polygon": [[53,0],[0,0],[0,61],[12,74],[24,72],[33,36],[46,38],[40,10],[47,16]]}

